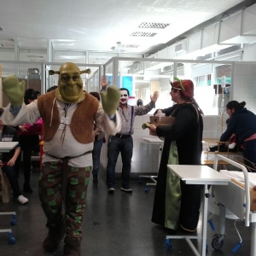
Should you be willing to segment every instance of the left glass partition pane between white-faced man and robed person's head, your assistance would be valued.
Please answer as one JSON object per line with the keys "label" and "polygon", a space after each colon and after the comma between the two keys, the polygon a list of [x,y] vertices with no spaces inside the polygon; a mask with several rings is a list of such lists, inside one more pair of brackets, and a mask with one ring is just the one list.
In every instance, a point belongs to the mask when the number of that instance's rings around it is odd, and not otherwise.
{"label": "left glass partition pane between white-faced man and robed person's head", "polygon": [[[166,101],[169,106],[172,103],[169,96],[171,77],[168,71],[173,67],[173,62],[145,60],[119,61],[119,87],[130,91],[131,105],[136,105],[139,99],[144,105],[148,104],[150,96],[157,90],[160,92],[157,108],[166,108]],[[152,110],[154,111],[155,109]]]}

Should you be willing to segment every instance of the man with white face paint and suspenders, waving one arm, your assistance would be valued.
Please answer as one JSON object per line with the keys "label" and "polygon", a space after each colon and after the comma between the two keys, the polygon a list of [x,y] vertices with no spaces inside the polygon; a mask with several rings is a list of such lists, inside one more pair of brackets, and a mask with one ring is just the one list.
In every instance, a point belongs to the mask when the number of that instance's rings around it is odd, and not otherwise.
{"label": "man with white face paint and suspenders, waving one arm", "polygon": [[[105,88],[102,86],[102,90]],[[122,184],[121,190],[124,192],[132,191],[130,187],[131,174],[131,157],[133,151],[133,134],[134,118],[137,115],[144,115],[155,108],[155,102],[158,98],[158,92],[154,92],[151,96],[151,102],[145,106],[130,106],[127,104],[129,100],[129,90],[120,88],[120,102],[118,112],[122,120],[122,128],[115,136],[110,136],[108,140],[108,166],[107,166],[107,185],[108,194],[114,192],[114,174],[115,166],[118,160],[119,153],[122,156]]]}

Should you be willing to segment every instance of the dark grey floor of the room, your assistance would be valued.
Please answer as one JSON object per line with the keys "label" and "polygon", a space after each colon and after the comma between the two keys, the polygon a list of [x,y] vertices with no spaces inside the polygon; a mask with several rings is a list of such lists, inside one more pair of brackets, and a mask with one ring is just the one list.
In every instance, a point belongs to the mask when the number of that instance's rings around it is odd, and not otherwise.
{"label": "dark grey floor of the room", "polygon": [[[16,243],[8,244],[6,233],[0,233],[1,256],[42,256],[44,253],[42,241],[47,230],[44,226],[45,217],[38,201],[38,171],[32,172],[32,189],[34,193],[27,195],[29,203],[21,206],[15,202],[0,203],[0,212],[17,212],[18,224],[9,225],[9,216],[0,216],[0,229],[13,229]],[[154,201],[154,187],[148,193],[144,192],[144,183],[131,181],[132,194],[119,190],[119,180],[113,195],[107,194],[104,175],[97,185],[90,182],[84,213],[84,238],[82,241],[83,256],[166,256],[166,255],[194,255],[186,241],[172,240],[172,250],[166,250],[166,230],[151,222],[151,212]],[[23,177],[20,174],[20,185]],[[143,180],[146,182],[146,180]],[[25,194],[24,194],[25,195]],[[218,229],[218,218],[213,216],[213,223]],[[233,220],[226,220],[226,236],[222,251],[212,249],[212,231],[207,226],[207,255],[250,255],[250,228],[236,223],[243,239],[243,246],[232,253],[232,248],[240,241],[236,233]],[[201,234],[201,223],[198,235]],[[178,233],[175,235],[179,235]],[[201,242],[194,240],[195,247],[201,247]],[[52,255],[61,256],[63,242]]]}

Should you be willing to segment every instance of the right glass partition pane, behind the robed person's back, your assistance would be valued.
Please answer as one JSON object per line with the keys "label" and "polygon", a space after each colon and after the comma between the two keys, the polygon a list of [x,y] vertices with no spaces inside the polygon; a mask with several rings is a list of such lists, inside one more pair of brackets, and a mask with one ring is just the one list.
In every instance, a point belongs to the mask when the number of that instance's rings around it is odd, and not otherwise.
{"label": "right glass partition pane, behind the robed person's back", "polygon": [[[225,114],[230,101],[231,64],[178,63],[177,77],[194,82],[195,101],[206,115]],[[180,70],[179,70],[180,69]],[[180,74],[179,74],[180,73]],[[222,82],[223,78],[226,78]]]}

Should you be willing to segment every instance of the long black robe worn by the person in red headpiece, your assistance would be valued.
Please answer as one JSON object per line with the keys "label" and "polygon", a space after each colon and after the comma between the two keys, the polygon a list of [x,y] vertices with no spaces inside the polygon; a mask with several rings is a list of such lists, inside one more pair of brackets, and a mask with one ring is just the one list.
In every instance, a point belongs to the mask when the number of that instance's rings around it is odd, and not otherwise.
{"label": "long black robe worn by the person in red headpiece", "polygon": [[[177,143],[179,165],[201,165],[203,122],[201,113],[192,103],[176,104],[172,108],[162,109],[162,112],[166,113],[166,116],[175,117],[172,125],[162,125],[156,129],[159,137],[165,137],[165,143],[154,195],[152,222],[165,227],[166,172],[171,143],[174,140]],[[180,182],[180,186],[182,195],[179,224],[183,230],[192,232],[195,231],[199,220],[201,185]]]}

